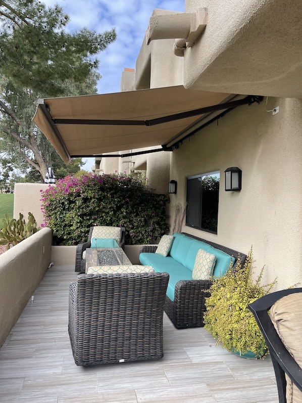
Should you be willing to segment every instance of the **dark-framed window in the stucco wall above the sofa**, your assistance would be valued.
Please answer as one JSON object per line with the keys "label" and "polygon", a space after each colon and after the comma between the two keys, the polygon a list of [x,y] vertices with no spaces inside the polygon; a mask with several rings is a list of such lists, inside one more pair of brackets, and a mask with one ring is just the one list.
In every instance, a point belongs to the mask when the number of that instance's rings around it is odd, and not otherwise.
{"label": "dark-framed window in the stucco wall above the sofa", "polygon": [[187,177],[186,226],[217,234],[220,174]]}

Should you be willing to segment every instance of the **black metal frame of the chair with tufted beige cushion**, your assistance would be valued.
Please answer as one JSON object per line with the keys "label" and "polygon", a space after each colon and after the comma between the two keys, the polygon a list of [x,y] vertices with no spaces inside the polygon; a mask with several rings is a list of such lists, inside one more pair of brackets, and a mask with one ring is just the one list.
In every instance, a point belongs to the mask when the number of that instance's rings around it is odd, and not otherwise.
{"label": "black metal frame of the chair with tufted beige cushion", "polygon": [[272,357],[272,363],[276,375],[279,394],[279,403],[288,403],[288,401],[286,400],[285,374],[296,385],[296,387],[300,391],[302,391],[302,369],[299,367],[293,356],[289,353],[289,351],[283,344],[270,319],[268,310],[280,298],[289,294],[301,292],[302,288],[291,288],[287,290],[276,291],[271,294],[267,294],[262,298],[259,298],[248,306],[249,310],[251,310],[251,312],[253,312],[255,316],[255,319],[263,333]]}

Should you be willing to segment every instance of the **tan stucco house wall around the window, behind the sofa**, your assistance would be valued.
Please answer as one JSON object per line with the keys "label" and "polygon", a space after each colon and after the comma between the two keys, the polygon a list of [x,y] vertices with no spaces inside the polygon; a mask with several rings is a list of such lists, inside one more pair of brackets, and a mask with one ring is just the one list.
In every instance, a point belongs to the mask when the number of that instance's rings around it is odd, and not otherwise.
{"label": "tan stucco house wall around the window, behind the sofa", "polygon": [[[272,115],[266,109],[279,106]],[[173,151],[170,177],[177,180],[171,207],[185,203],[186,176],[220,170],[218,234],[195,234],[247,253],[253,245],[264,282],[278,289],[302,283],[302,101],[268,99],[242,106],[184,141]],[[224,191],[224,170],[242,169],[242,190]],[[172,219],[172,217],[171,217]]]}

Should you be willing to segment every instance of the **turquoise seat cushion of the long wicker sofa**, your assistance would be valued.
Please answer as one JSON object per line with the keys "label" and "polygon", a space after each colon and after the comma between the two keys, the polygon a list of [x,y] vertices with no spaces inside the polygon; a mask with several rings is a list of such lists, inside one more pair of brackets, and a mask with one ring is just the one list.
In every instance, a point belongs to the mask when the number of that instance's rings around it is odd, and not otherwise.
{"label": "turquoise seat cushion of the long wicker sofa", "polygon": [[[162,256],[157,253],[140,253],[139,260],[143,265],[153,266],[155,272],[169,273],[167,296],[174,301],[175,286],[179,280],[192,280],[192,272],[171,256]],[[147,263],[148,262],[148,263]]]}

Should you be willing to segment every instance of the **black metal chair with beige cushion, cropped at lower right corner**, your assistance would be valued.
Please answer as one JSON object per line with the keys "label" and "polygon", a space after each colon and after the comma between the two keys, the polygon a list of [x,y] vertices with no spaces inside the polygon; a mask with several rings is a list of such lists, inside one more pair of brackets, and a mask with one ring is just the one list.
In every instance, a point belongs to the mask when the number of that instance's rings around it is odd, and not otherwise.
{"label": "black metal chair with beige cushion, cropped at lower right corner", "polygon": [[[289,294],[297,294],[301,292],[302,288],[291,288],[273,292],[259,298],[248,306],[249,310],[251,310],[255,316],[272,357],[279,394],[279,403],[302,401],[302,368],[293,357],[293,355],[297,355],[298,357],[296,357],[296,360],[299,359],[301,365],[301,298],[299,298],[298,302],[296,302],[296,300],[293,301],[296,312],[293,312],[294,309],[290,308],[287,310],[290,305],[287,305],[284,310],[282,307],[280,308],[280,305],[282,306],[282,304],[285,305],[286,303],[284,299],[283,301],[280,301],[278,308],[276,308],[279,321],[281,321],[281,323],[278,324],[278,329],[280,334],[283,333],[282,339],[271,321],[268,310],[281,298],[286,297]],[[296,314],[297,316],[295,316]],[[287,332],[286,330],[284,332],[284,325],[282,325],[282,322],[285,324]],[[297,322],[299,322],[299,324],[297,324]],[[294,339],[295,336],[297,337]],[[294,388],[293,384],[297,389]],[[293,395],[294,398],[292,397]]]}

